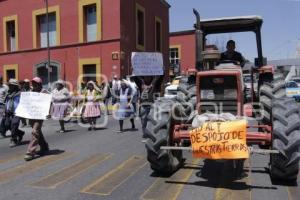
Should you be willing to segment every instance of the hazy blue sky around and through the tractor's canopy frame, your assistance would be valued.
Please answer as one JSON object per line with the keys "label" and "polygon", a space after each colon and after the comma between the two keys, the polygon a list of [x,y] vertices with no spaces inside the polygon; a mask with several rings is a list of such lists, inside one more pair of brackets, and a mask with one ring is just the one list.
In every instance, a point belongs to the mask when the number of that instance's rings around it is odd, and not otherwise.
{"label": "hazy blue sky around and through the tractor's canopy frame", "polygon": [[[192,29],[195,22],[192,9],[202,19],[241,15],[260,15],[264,19],[262,42],[268,60],[294,58],[300,44],[300,0],[168,0],[170,31]],[[216,37],[218,39],[216,39]],[[209,41],[223,44],[234,39],[237,50],[253,61],[257,56],[254,33],[214,35]],[[221,45],[222,46],[222,45]]]}

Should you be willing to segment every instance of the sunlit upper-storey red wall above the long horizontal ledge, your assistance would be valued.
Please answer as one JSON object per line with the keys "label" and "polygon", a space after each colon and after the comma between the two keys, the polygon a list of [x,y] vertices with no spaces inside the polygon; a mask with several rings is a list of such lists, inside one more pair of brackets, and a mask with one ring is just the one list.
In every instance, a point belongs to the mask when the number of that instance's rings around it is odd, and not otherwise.
{"label": "sunlit upper-storey red wall above the long horizontal ledge", "polygon": [[[60,6],[61,45],[79,41],[78,0],[48,0],[50,6]],[[102,39],[120,38],[120,0],[101,0]],[[32,11],[45,8],[44,0],[6,0],[0,3],[0,19],[18,15],[19,49],[32,49]],[[3,24],[0,23],[1,36]],[[0,37],[0,52],[3,52],[3,37]]]}

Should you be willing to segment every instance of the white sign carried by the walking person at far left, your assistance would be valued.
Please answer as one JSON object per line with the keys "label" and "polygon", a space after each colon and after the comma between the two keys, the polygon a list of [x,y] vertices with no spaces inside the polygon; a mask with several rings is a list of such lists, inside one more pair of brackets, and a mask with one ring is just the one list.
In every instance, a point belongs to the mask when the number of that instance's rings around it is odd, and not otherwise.
{"label": "white sign carried by the walking person at far left", "polygon": [[26,119],[45,120],[49,115],[51,100],[51,94],[21,92],[16,115]]}

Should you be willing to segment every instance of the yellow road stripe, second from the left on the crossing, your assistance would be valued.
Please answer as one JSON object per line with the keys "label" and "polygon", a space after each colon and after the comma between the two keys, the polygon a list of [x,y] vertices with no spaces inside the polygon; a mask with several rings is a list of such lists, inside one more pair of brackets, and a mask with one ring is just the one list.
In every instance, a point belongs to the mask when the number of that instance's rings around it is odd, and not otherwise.
{"label": "yellow road stripe, second from the left on the crossing", "polygon": [[84,171],[92,168],[96,164],[103,162],[104,160],[108,159],[111,154],[96,154],[88,159],[84,159],[78,163],[75,163],[71,166],[68,166],[60,171],[57,171],[53,174],[50,174],[41,180],[31,183],[30,186],[38,187],[38,188],[49,188],[54,189],[58,185],[78,176],[79,174],[83,173]]}

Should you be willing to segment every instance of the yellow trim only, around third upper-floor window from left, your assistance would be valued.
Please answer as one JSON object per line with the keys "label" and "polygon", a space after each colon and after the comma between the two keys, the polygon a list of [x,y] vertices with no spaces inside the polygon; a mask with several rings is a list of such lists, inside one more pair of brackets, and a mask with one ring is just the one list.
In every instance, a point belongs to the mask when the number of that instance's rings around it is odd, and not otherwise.
{"label": "yellow trim only, around third upper-floor window from left", "polygon": [[78,1],[78,30],[79,30],[79,42],[85,42],[84,41],[84,24],[83,24],[83,7],[87,5],[96,4],[96,15],[97,15],[97,36],[96,40],[102,39],[102,13],[101,13],[101,1],[100,0],[79,0]]}

